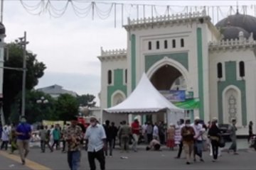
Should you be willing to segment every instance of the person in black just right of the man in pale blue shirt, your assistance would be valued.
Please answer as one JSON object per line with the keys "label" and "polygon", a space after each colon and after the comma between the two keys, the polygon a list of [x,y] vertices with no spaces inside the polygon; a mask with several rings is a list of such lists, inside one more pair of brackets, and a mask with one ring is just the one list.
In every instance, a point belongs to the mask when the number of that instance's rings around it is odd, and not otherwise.
{"label": "person in black just right of the man in pale blue shirt", "polygon": [[104,125],[105,133],[106,133],[106,149],[105,149],[105,156],[108,156],[108,149],[110,149],[110,157],[112,157],[112,149],[113,149],[113,142],[114,142],[114,128],[110,126],[110,120],[105,121]]}

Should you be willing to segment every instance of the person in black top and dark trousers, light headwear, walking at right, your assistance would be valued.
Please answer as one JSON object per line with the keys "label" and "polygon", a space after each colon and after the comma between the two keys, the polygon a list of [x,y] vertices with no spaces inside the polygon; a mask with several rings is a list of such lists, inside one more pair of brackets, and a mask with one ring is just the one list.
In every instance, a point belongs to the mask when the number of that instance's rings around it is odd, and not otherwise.
{"label": "person in black top and dark trousers, light headwear, walking at right", "polygon": [[213,119],[208,131],[208,136],[213,150],[213,162],[216,162],[218,159],[218,142],[220,140],[220,129],[216,123],[217,120]]}

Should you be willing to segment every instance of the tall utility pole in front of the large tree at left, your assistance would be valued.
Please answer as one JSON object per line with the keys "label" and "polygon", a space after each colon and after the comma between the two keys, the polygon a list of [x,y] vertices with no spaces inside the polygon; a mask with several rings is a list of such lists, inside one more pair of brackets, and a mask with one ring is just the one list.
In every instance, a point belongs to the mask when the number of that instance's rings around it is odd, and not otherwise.
{"label": "tall utility pole in front of the large tree at left", "polygon": [[23,48],[23,78],[22,78],[22,99],[21,99],[21,116],[25,115],[26,106],[26,31],[24,32],[24,37],[18,38],[18,44]]}

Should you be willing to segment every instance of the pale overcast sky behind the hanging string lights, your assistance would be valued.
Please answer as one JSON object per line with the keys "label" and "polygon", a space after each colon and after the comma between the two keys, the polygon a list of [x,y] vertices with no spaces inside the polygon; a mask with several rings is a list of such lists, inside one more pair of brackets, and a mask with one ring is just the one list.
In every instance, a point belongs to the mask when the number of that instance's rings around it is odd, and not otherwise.
{"label": "pale overcast sky behind the hanging string lights", "polygon": [[[28,6],[33,6],[38,1],[24,1]],[[97,1],[96,1],[97,2]],[[114,2],[114,1],[105,1]],[[235,5],[236,1],[115,1],[126,4],[158,4],[158,5]],[[56,8],[65,4],[53,2]],[[76,3],[78,4],[78,3]],[[239,1],[240,5],[256,5],[255,1]],[[81,8],[85,3],[78,4]],[[135,8],[134,8],[135,7]],[[102,11],[110,5],[99,5]],[[251,6],[253,9],[253,6]],[[173,11],[182,11],[182,8],[172,8]],[[164,8],[159,7],[159,11]],[[200,11],[200,10],[199,10]],[[136,6],[126,6],[124,17],[136,18]],[[129,14],[130,13],[130,14]],[[160,13],[160,12],[159,12]],[[223,14],[224,13],[224,14]],[[150,8],[146,14],[151,14]],[[228,15],[228,8],[222,11],[223,16]],[[254,14],[254,13],[252,13]],[[142,10],[140,11],[142,15]],[[125,18],[127,21],[127,18]],[[127,34],[122,28],[121,11],[117,8],[117,28],[114,28],[114,10],[109,18],[101,20],[95,13],[87,18],[75,16],[73,8],[60,18],[53,18],[48,13],[40,16],[31,15],[21,5],[20,1],[4,1],[4,25],[6,26],[6,42],[14,41],[27,32],[29,41],[28,50],[38,55],[38,60],[46,64],[46,72],[39,80],[38,87],[58,84],[64,89],[75,91],[78,94],[97,94],[100,92],[100,47],[105,50],[127,48]],[[96,100],[97,104],[98,99]]]}

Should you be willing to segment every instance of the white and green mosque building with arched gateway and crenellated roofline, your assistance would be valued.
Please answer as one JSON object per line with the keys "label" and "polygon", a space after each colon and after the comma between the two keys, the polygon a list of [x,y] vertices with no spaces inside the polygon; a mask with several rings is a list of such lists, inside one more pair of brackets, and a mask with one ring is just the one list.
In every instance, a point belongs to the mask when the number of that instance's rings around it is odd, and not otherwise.
{"label": "white and green mosque building with arched gateway and crenellated roofline", "polygon": [[124,101],[146,73],[171,102],[196,105],[186,108],[191,119],[235,118],[238,134],[256,123],[255,17],[235,13],[214,25],[202,11],[129,20],[124,28],[127,49],[102,49],[98,57],[102,109]]}

